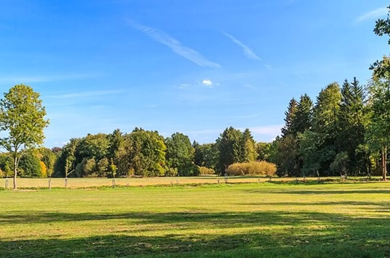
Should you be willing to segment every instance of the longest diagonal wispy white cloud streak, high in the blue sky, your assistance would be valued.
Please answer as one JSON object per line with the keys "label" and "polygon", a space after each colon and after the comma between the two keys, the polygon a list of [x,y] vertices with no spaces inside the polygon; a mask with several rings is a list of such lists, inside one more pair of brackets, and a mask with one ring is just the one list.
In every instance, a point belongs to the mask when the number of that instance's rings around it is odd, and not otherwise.
{"label": "longest diagonal wispy white cloud streak, high in the blue sky", "polygon": [[192,62],[200,66],[221,67],[221,65],[207,60],[205,57],[203,57],[200,53],[198,53],[194,49],[188,48],[186,46],[182,46],[180,41],[170,37],[168,34],[166,34],[165,32],[159,29],[137,24],[135,23],[135,21],[131,19],[128,19],[128,24],[131,27],[135,28],[136,30],[151,37],[155,41],[158,41],[161,44],[168,46],[176,54],[181,55],[182,57],[187,58],[188,60],[191,60]]}

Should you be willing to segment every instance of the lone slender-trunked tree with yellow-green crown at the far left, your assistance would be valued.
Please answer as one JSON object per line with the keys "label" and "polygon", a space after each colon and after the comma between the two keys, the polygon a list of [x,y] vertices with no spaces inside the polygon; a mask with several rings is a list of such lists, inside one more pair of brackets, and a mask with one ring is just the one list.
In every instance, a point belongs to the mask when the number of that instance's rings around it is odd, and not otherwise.
{"label": "lone slender-trunked tree with yellow-green crown at the far left", "polygon": [[0,130],[8,133],[0,144],[12,154],[14,166],[14,189],[21,157],[29,148],[43,144],[43,129],[49,125],[45,120],[46,110],[40,94],[26,85],[16,85],[4,93],[0,101]]}

